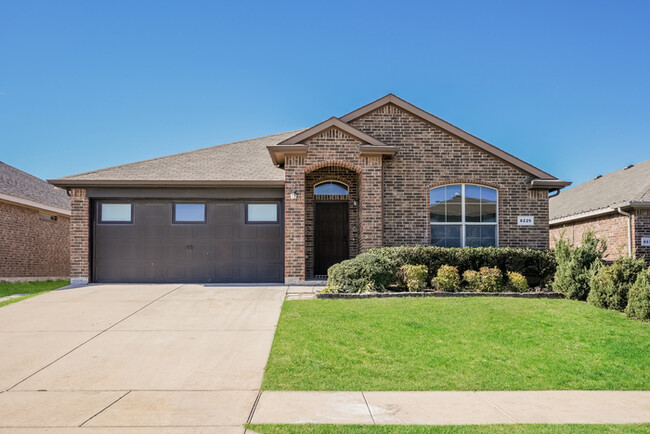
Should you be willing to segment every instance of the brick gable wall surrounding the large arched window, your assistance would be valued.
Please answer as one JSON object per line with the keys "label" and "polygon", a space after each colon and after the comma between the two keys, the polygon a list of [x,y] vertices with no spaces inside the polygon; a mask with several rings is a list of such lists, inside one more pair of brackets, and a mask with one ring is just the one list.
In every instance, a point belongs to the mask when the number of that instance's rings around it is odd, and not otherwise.
{"label": "brick gable wall surrounding the large arched window", "polygon": [[[392,104],[351,125],[398,148],[383,162],[384,245],[429,244],[429,188],[471,182],[499,191],[500,246],[548,247],[548,192],[529,191],[528,174]],[[524,215],[535,225],[517,226]]]}

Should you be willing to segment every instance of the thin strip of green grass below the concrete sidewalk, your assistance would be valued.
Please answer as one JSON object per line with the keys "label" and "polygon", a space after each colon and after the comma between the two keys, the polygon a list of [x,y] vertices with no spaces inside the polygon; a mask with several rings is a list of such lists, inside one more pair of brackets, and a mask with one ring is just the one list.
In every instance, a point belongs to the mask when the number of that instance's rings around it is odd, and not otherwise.
{"label": "thin strip of green grass below the concrete sidewalk", "polygon": [[260,434],[425,433],[647,433],[650,424],[630,425],[246,425]]}

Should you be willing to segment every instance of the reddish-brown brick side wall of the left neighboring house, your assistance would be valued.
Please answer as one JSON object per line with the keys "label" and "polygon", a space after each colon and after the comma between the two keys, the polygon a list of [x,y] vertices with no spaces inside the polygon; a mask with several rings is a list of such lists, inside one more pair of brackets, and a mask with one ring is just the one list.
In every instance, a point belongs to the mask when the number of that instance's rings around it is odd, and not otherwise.
{"label": "reddish-brown brick side wall of the left neighboring house", "polygon": [[0,279],[70,275],[70,219],[0,202]]}

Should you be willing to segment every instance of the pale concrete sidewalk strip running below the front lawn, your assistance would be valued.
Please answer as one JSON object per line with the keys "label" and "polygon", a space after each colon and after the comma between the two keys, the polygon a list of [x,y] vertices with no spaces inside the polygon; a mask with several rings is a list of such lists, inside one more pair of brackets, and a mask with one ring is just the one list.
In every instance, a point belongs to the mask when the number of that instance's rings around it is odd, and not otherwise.
{"label": "pale concrete sidewalk strip running below the front lawn", "polygon": [[650,392],[263,392],[252,423],[650,423]]}

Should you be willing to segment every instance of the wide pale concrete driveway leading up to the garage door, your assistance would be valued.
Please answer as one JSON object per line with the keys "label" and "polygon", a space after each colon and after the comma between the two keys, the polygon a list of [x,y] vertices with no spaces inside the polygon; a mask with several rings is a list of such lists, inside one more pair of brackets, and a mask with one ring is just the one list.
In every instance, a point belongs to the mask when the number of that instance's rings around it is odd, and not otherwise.
{"label": "wide pale concrete driveway leading up to the garage door", "polygon": [[90,285],[0,308],[0,432],[236,432],[286,287]]}

